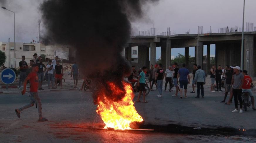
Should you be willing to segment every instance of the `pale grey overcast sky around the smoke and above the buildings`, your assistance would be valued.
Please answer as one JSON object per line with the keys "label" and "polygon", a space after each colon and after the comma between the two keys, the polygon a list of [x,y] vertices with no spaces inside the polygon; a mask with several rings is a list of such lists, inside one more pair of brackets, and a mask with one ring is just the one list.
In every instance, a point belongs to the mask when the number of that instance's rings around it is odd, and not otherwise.
{"label": "pale grey overcast sky around the smoke and above the buildings", "polygon": [[[16,42],[36,40],[42,0],[6,0],[0,6],[16,13]],[[256,0],[245,0],[245,22],[255,23]],[[151,27],[166,32],[167,27],[176,34],[197,34],[197,26],[204,33],[218,32],[220,27],[242,27],[243,0],[160,0],[143,6],[145,17],[132,23],[133,33],[147,31]],[[0,8],[0,41],[13,41],[13,13]],[[182,51],[181,51],[182,52]],[[179,50],[178,50],[179,53]],[[190,52],[193,53],[193,52]],[[212,53],[211,53],[212,54]],[[173,54],[172,54],[173,55]],[[158,56],[157,56],[158,57]]]}

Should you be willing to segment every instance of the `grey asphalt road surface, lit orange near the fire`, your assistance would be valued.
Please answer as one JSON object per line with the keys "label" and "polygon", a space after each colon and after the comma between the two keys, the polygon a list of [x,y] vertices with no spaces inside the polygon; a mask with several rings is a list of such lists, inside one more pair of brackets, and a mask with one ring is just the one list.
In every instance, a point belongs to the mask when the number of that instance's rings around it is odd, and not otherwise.
{"label": "grey asphalt road surface, lit orange near the fire", "polygon": [[[173,124],[202,129],[256,129],[256,111],[249,109],[242,114],[232,113],[234,104],[220,103],[222,93],[210,93],[208,88],[205,90],[204,99],[196,99],[195,94],[191,93],[187,99],[179,99],[172,97],[169,92],[164,92],[160,98],[156,97],[157,91],[151,91],[146,96],[148,103],[135,103],[135,107],[145,120],[145,127]],[[17,118],[14,109],[30,101],[27,95],[0,95],[1,142],[256,142],[255,137],[232,135],[232,132],[229,135],[220,132],[208,135],[104,130],[104,123],[96,114],[96,105],[90,92],[46,92],[39,96],[43,104],[43,116],[49,120],[47,122],[37,121],[38,111],[35,106],[22,111],[21,118]]]}

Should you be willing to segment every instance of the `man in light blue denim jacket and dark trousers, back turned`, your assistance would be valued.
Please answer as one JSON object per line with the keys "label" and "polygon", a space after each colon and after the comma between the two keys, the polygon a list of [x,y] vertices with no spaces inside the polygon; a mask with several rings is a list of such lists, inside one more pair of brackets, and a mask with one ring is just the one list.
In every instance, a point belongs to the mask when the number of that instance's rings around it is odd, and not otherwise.
{"label": "man in light blue denim jacket and dark trousers, back turned", "polygon": [[197,71],[195,73],[195,83],[197,86],[197,96],[196,98],[200,97],[200,89],[202,98],[204,98],[204,84],[205,84],[205,72],[201,69],[201,66],[197,66]]}

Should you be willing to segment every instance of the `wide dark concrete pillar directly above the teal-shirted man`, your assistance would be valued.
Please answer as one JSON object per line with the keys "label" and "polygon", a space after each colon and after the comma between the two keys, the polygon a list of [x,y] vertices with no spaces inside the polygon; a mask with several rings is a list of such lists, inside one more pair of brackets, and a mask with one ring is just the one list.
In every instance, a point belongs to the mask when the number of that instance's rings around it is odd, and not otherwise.
{"label": "wide dark concrete pillar directly above the teal-shirted man", "polygon": [[142,67],[148,67],[147,65],[147,47],[146,46],[138,46],[138,67],[142,68]]}

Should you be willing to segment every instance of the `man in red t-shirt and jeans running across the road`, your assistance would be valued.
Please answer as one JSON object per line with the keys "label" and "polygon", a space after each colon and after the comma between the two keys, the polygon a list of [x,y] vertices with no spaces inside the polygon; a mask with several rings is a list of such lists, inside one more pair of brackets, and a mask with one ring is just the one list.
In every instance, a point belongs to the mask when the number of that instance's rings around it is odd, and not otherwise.
{"label": "man in red t-shirt and jeans running across the road", "polygon": [[[38,105],[38,114],[39,114],[39,119],[38,121],[48,121],[46,118],[43,118],[42,116],[42,104],[41,104],[41,100],[38,96],[37,93],[37,89],[38,89],[38,65],[37,64],[33,64],[32,65],[32,71],[28,74],[28,76],[26,77],[26,79],[24,80],[24,87],[26,87],[27,81],[29,80],[30,82],[30,103],[19,108],[19,109],[15,109],[15,112],[18,116],[18,118],[20,118],[20,113],[22,110],[27,109],[29,107],[34,106],[34,104],[36,103]],[[23,88],[21,94],[24,95],[26,92],[26,88]]]}

